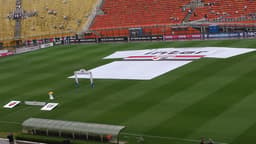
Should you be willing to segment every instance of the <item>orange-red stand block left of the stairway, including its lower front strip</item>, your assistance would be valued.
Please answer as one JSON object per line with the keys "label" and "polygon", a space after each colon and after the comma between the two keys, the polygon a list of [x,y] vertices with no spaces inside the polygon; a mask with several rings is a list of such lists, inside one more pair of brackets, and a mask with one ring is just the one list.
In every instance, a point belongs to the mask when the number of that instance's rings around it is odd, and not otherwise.
{"label": "orange-red stand block left of the stairway, including its lower front strip", "polygon": [[[145,34],[171,34],[170,25],[188,15],[190,0],[106,0],[90,30],[100,36],[128,36],[129,28],[142,27]],[[193,28],[187,29],[193,33]]]}

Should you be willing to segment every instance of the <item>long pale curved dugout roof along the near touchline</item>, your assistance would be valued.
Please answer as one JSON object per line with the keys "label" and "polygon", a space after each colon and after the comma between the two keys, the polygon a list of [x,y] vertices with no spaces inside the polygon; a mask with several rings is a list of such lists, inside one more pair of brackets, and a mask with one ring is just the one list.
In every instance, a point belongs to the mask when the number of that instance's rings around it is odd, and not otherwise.
{"label": "long pale curved dugout roof along the near touchline", "polygon": [[25,129],[44,129],[49,131],[80,132],[85,134],[118,135],[125,126],[83,123],[62,120],[29,118],[22,123]]}

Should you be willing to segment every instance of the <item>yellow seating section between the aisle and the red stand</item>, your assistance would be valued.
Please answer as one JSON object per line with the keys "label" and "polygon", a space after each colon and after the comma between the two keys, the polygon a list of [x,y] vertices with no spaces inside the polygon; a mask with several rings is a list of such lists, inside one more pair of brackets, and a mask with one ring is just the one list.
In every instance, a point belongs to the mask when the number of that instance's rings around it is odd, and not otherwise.
{"label": "yellow seating section between the aisle and the red stand", "polygon": [[44,36],[77,33],[86,23],[97,0],[38,0],[24,1],[27,11],[37,11],[38,16],[23,21],[23,36]]}

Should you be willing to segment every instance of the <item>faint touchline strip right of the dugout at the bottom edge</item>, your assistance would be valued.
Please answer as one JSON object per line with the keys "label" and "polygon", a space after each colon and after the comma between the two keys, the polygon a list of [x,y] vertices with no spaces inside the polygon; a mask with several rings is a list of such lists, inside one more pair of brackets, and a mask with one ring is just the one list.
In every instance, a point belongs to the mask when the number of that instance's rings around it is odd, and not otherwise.
{"label": "faint touchline strip right of the dugout at the bottom edge", "polygon": [[[164,136],[135,134],[135,133],[121,133],[121,134],[129,135],[129,136],[143,136],[143,137],[149,137],[149,138],[159,138],[159,139],[169,139],[169,140],[177,140],[177,141],[184,141],[184,142],[200,143],[200,140],[197,140],[197,139],[187,139],[187,138],[178,138],[178,137],[164,137]],[[228,143],[225,143],[225,142],[218,142],[218,141],[214,141],[214,143],[215,144],[228,144]]]}

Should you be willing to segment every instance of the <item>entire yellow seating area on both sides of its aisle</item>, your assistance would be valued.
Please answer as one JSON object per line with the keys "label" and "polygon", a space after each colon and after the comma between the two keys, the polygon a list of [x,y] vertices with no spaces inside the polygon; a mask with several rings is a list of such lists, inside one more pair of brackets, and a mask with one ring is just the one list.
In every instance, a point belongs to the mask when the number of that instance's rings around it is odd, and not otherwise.
{"label": "entire yellow seating area on both sides of its aisle", "polygon": [[[4,5],[0,9],[0,39],[14,36],[15,2],[0,0]],[[96,3],[97,0],[23,0],[21,7],[26,15],[21,21],[21,38],[74,35],[82,31]]]}

